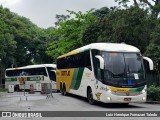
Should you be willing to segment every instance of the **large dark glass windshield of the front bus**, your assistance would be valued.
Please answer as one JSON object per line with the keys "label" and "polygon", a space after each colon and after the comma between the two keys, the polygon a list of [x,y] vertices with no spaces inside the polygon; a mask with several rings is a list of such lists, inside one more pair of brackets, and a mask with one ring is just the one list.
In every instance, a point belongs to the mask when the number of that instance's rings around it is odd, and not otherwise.
{"label": "large dark glass windshield of the front bus", "polygon": [[105,61],[104,79],[144,79],[144,69],[139,53],[102,52]]}

